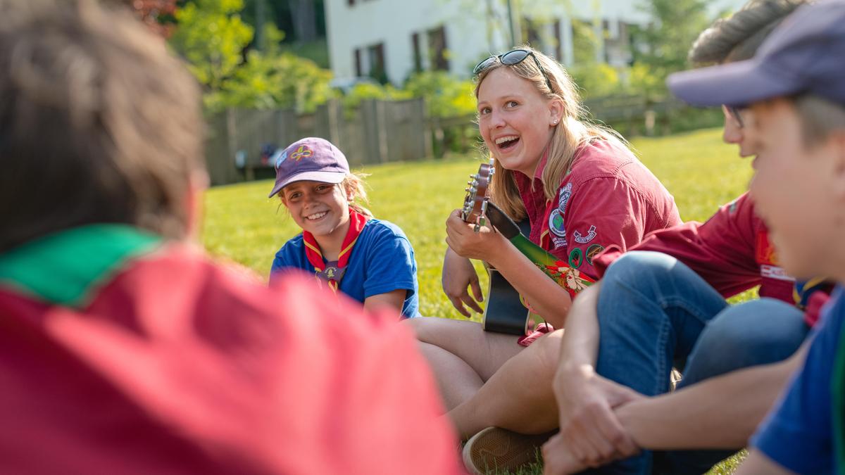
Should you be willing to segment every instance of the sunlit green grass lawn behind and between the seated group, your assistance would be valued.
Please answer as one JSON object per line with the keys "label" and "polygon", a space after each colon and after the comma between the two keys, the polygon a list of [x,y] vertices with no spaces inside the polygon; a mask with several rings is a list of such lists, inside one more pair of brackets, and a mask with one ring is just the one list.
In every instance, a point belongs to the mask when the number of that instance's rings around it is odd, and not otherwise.
{"label": "sunlit green grass lawn behind and between the seated group", "polygon": [[[751,177],[750,162],[739,159],[735,146],[722,143],[721,129],[635,139],[632,145],[673,194],[684,221],[706,220],[719,205],[742,194]],[[423,315],[464,318],[440,289],[444,221],[451,210],[460,207],[467,177],[479,163],[477,156],[453,157],[358,170],[371,174],[367,183],[373,214],[402,227],[411,240],[417,255]],[[266,198],[272,185],[271,181],[243,183],[213,188],[205,194],[206,248],[265,277],[275,251],[299,232],[278,199]],[[736,463],[727,461],[715,473],[732,472]]]}

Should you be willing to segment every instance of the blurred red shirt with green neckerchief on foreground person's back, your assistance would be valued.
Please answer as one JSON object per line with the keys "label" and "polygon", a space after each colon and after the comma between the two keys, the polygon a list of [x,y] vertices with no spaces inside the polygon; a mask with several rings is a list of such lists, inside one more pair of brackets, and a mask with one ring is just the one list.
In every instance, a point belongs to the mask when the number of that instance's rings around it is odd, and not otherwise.
{"label": "blurred red shirt with green neckerchief on foreground person's back", "polygon": [[460,473],[412,335],[80,227],[0,254],[0,472]]}

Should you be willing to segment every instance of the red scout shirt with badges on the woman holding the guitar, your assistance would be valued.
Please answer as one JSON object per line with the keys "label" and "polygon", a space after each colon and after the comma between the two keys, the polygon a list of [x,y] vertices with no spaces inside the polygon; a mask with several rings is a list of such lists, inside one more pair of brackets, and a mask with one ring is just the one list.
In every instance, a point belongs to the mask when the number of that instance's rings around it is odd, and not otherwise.
{"label": "red scout shirt with badges on the woman holding the guitar", "polygon": [[529,239],[587,276],[597,277],[593,258],[604,248],[629,248],[648,232],[681,222],[668,190],[615,142],[599,139],[581,147],[553,200],[542,192],[546,159],[533,183],[514,173],[531,222]]}

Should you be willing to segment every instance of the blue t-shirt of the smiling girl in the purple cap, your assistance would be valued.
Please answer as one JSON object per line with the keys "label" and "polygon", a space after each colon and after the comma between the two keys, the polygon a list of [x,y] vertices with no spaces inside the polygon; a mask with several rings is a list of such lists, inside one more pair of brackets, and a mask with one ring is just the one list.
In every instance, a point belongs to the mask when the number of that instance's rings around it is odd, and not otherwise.
{"label": "blue t-shirt of the smiling girl in the purple cap", "polygon": [[[276,272],[286,267],[313,272],[313,266],[305,256],[302,234],[292,238],[275,253],[270,281],[273,281]],[[379,293],[405,289],[402,316],[418,316],[417,261],[414,249],[400,227],[377,219],[370,219],[364,224],[346,264],[340,289],[361,303]]]}

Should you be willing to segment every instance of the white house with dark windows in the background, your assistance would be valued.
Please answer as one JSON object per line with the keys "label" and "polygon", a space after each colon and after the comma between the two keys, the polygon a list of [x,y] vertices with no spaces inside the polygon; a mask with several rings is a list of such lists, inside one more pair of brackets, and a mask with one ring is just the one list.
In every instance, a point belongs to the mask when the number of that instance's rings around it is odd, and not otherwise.
{"label": "white house with dark windows in the background", "polygon": [[[711,13],[743,3],[717,0]],[[394,85],[418,70],[468,77],[478,61],[524,39],[572,65],[575,22],[592,31],[597,61],[621,66],[631,59],[630,25],[651,20],[637,0],[325,0],[325,10],[335,79]]]}

